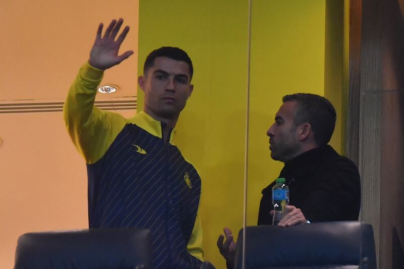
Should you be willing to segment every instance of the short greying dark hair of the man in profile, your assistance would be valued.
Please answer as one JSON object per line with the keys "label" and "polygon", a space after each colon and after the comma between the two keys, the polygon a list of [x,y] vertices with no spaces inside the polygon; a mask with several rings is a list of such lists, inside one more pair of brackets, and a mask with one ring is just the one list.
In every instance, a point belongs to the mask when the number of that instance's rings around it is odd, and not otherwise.
{"label": "short greying dark hair of the man in profile", "polygon": [[330,141],[337,115],[329,100],[317,94],[295,93],[283,96],[282,101],[297,102],[293,122],[296,126],[309,123],[317,146],[325,145]]}

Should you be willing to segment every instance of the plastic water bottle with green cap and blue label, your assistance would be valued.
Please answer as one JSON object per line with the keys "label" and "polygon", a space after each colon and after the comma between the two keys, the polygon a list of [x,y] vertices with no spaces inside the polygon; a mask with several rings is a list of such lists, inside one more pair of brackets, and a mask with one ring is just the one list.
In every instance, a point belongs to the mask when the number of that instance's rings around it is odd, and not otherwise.
{"label": "plastic water bottle with green cap and blue label", "polygon": [[289,187],[285,184],[284,178],[277,178],[272,188],[272,204],[274,205],[274,216],[272,225],[278,225],[283,218],[285,206],[289,204]]}

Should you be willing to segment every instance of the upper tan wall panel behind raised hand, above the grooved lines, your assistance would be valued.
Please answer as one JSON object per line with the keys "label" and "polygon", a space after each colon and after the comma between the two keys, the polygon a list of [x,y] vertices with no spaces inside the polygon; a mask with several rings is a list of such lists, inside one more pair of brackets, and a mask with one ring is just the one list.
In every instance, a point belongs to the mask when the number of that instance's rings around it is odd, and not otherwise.
{"label": "upper tan wall panel behind raised hand, above the grooved lines", "polygon": [[[131,30],[121,50],[137,51],[138,1],[6,0],[1,6],[0,17],[7,23],[0,25],[0,102],[63,100],[88,60],[100,22],[124,18]],[[134,96],[136,74],[137,53],[106,73],[103,82],[121,87],[114,96]]]}

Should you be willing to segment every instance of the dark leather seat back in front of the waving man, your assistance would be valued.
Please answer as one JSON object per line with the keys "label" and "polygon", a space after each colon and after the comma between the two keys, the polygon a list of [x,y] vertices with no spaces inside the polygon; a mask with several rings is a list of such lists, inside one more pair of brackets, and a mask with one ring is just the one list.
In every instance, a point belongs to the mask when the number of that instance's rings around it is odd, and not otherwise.
{"label": "dark leather seat back in front of the waving man", "polygon": [[139,228],[28,233],[15,268],[151,268],[151,234]]}

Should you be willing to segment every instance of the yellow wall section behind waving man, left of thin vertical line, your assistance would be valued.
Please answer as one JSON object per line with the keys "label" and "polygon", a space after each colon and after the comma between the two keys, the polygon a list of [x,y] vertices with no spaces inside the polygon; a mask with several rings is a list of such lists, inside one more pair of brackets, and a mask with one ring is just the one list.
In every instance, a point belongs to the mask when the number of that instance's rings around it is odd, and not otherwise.
{"label": "yellow wall section behind waving man, left of thin vertical line", "polygon": [[[147,54],[178,46],[194,65],[194,90],[177,124],[176,144],[203,180],[205,259],[225,268],[216,241],[242,227],[247,1],[140,1],[139,74]],[[142,106],[138,90],[138,111]]]}

